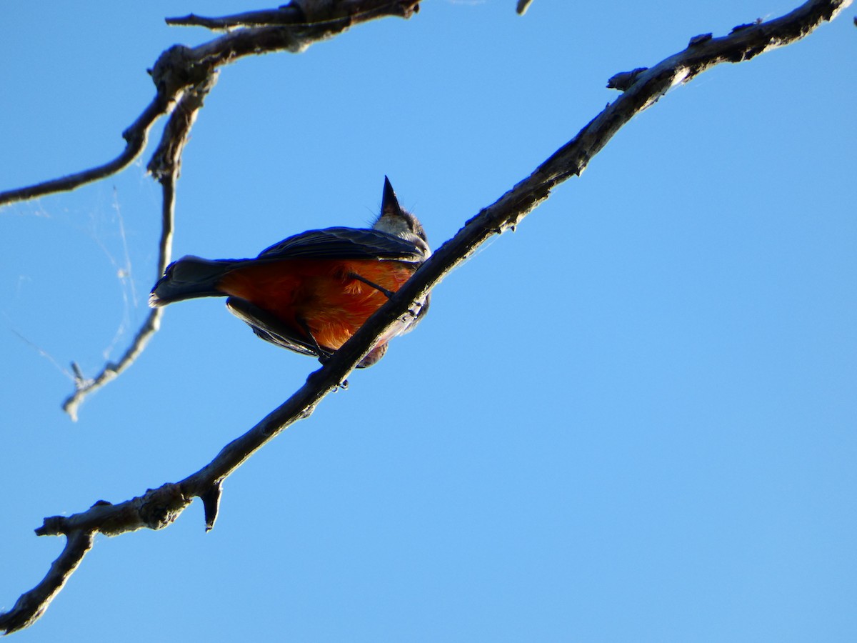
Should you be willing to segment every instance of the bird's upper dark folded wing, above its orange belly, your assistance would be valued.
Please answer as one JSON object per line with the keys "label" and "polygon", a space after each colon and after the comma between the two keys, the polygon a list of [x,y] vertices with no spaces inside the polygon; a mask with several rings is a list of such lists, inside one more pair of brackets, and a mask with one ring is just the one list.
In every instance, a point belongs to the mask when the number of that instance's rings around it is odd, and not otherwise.
{"label": "bird's upper dark folded wing, above its orange belly", "polygon": [[309,230],[264,249],[258,259],[387,259],[417,263],[422,249],[387,232],[368,228]]}

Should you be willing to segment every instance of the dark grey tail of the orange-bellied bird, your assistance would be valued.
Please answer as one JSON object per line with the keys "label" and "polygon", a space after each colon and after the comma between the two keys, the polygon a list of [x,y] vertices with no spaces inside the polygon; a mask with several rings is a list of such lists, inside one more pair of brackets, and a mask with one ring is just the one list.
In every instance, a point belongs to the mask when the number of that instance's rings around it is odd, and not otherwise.
{"label": "dark grey tail of the orange-bellied bird", "polygon": [[226,293],[220,291],[217,285],[225,273],[238,263],[240,261],[231,259],[212,261],[198,256],[183,256],[178,261],[173,261],[164,276],[158,279],[152,294],[149,295],[149,305],[159,308],[183,299],[223,297]]}

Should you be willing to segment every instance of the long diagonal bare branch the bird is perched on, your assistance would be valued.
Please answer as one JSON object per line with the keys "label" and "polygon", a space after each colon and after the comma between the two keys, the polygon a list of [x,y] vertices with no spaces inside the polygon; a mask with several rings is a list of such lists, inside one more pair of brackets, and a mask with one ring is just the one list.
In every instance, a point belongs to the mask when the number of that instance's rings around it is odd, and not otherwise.
{"label": "long diagonal bare branch the bird is perched on", "polygon": [[[69,537],[71,544],[77,538],[89,538],[88,542],[91,543],[93,532],[116,536],[143,527],[161,529],[176,520],[194,496],[203,499],[207,528],[210,528],[216,519],[220,484],[231,472],[279,432],[299,419],[309,418],[315,406],[329,392],[338,388],[340,382],[345,381],[345,377],[371,350],[375,341],[401,316],[411,314],[409,309],[414,302],[440,283],[453,267],[472,255],[488,237],[514,228],[527,213],[548,198],[550,190],[557,184],[579,175],[590,159],[633,116],[653,105],[670,87],[691,80],[717,63],[749,60],[763,51],[806,36],[822,21],[834,18],[850,2],[811,0],[782,18],[740,26],[723,38],[714,39],[709,34],[696,37],[684,51],[668,57],[655,67],[645,71],[636,70],[637,73],[629,75],[623,83],[626,91],[614,103],[539,165],[530,177],[467,221],[455,237],[435,251],[411,279],[333,354],[325,366],[309,375],[303,387],[255,427],[227,444],[207,466],[178,483],[164,484],[159,489],[148,490],[143,496],[117,505],[98,502],[81,514],[46,518],[36,533],[64,534]],[[66,550],[69,550],[69,546]],[[54,574],[55,568],[62,572],[62,580],[54,579],[48,586],[61,587],[85,552],[86,549],[76,552],[75,556],[79,554],[76,558],[69,555],[69,560],[74,561],[74,564],[69,565],[68,561],[61,562],[66,553],[63,551],[63,556],[51,567],[51,574]],[[22,596],[12,611],[0,615],[0,628],[11,632],[27,627],[44,613],[58,589],[52,592],[38,590],[51,578],[51,574],[32,592]]]}

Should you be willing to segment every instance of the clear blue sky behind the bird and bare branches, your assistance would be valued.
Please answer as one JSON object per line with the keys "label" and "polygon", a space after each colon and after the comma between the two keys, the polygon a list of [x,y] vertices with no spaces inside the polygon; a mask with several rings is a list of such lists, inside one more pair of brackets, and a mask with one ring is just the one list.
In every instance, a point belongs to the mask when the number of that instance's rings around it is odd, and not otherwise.
{"label": "clear blue sky behind the bird and bare branches", "polygon": [[[255,8],[144,4],[0,6],[0,189],[118,152],[145,69],[209,38],[164,16]],[[513,5],[432,0],[223,69],[175,256],[366,225],[385,174],[439,246],[614,99],[611,75],[797,2]],[[99,537],[16,640],[854,640],[853,16],[636,117],[229,478],[213,532],[195,503]],[[69,363],[93,375],[147,313],[147,159],[0,210],[0,609],[62,547],[33,535],[44,516],[185,477],[315,369],[222,301],[180,303],[63,415]]]}

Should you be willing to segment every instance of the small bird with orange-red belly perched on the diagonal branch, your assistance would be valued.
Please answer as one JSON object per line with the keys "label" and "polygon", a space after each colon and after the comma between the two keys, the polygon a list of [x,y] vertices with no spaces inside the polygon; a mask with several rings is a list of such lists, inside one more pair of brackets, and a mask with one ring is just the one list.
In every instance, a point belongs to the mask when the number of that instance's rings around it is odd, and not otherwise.
{"label": "small bird with orange-red belly perched on the diagonal branch", "polygon": [[[309,230],[255,259],[182,257],[155,284],[149,305],[228,297],[231,313],[261,339],[323,361],[430,255],[423,226],[399,206],[384,177],[381,214],[371,229]],[[411,330],[427,310],[428,296],[378,340],[358,368],[381,359],[387,342]]]}

